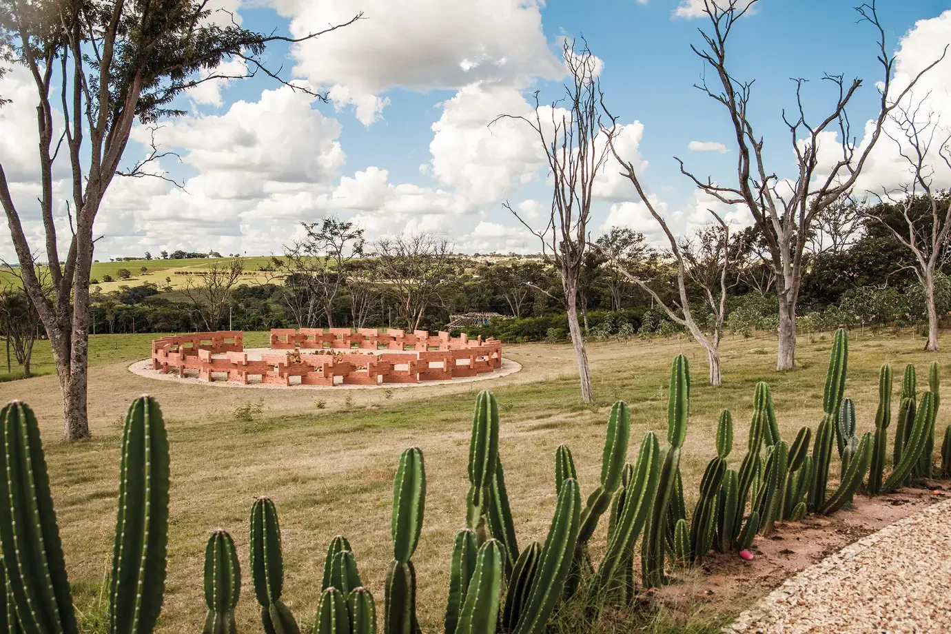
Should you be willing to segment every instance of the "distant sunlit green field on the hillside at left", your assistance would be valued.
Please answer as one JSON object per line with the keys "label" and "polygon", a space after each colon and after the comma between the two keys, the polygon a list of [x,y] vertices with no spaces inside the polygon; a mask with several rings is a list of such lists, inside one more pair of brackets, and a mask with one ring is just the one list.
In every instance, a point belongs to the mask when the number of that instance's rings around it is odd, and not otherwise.
{"label": "distant sunlit green field on the hillside at left", "polygon": [[[265,281],[267,276],[262,274],[259,269],[262,265],[269,264],[269,256],[256,256],[253,258],[244,258],[243,279],[247,283],[256,283]],[[180,288],[187,283],[189,276],[176,275],[176,272],[185,273],[188,271],[207,270],[215,262],[227,262],[230,258],[194,258],[194,259],[136,259],[127,262],[94,262],[92,264],[91,278],[99,280],[98,284],[103,292],[114,291],[120,286],[135,286],[145,284],[146,282],[156,284],[160,288],[166,285],[165,278],[170,278],[172,288]],[[146,267],[146,273],[142,272],[142,267]],[[119,279],[119,269],[128,269],[132,274],[129,279]],[[104,282],[104,276],[111,276],[112,281]],[[240,282],[239,282],[240,283]],[[17,278],[9,269],[0,269],[0,288],[20,285],[20,279]]]}

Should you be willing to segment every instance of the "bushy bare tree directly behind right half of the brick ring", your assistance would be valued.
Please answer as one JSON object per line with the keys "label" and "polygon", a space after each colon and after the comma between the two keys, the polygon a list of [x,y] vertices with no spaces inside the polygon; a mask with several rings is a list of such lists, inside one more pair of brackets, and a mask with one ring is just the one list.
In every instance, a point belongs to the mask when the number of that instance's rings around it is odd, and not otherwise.
{"label": "bushy bare tree directly behind right half of the brick ring", "polygon": [[380,287],[396,300],[398,323],[419,328],[426,309],[441,304],[439,291],[453,273],[449,241],[429,233],[378,240]]}

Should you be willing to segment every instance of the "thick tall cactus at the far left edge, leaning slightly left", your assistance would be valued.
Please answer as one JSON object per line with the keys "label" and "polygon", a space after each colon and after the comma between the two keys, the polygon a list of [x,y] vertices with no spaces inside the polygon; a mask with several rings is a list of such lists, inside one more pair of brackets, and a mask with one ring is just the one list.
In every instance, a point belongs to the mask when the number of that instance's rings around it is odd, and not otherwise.
{"label": "thick tall cactus at the far left edge, leaning slightly left", "polygon": [[0,427],[0,542],[8,594],[28,634],[78,634],[36,418],[26,403],[12,401],[0,411]]}

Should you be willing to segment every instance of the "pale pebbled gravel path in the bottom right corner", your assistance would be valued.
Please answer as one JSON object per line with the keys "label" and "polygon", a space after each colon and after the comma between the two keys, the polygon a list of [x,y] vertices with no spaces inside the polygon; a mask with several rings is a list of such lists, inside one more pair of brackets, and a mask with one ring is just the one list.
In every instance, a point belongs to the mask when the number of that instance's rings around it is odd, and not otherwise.
{"label": "pale pebbled gravel path in the bottom right corner", "polygon": [[723,632],[951,632],[951,500],[806,568]]}

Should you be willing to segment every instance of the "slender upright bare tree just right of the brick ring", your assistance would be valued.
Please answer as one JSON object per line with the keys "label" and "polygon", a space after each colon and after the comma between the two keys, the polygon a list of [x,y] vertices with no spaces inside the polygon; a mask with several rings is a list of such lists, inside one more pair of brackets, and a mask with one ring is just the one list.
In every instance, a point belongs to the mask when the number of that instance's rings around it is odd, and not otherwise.
{"label": "slender upright bare tree just right of the brick ring", "polygon": [[553,180],[551,213],[538,227],[520,216],[508,202],[505,207],[541,242],[542,257],[552,262],[565,290],[568,328],[578,364],[581,398],[594,401],[591,368],[585,339],[578,324],[578,280],[581,277],[591,218],[594,180],[608,159],[608,144],[615,127],[602,125],[602,92],[598,60],[588,43],[575,48],[574,40],[563,44],[569,83],[565,95],[543,108],[534,94],[531,116],[501,115],[532,126],[545,150]]}

